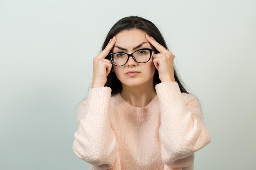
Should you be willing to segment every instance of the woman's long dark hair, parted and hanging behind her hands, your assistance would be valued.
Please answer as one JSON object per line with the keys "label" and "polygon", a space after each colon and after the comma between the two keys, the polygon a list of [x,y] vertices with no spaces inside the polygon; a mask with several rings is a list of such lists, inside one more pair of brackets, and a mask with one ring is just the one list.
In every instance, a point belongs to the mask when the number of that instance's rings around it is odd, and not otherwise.
{"label": "woman's long dark hair, parted and hanging behind her hands", "polygon": [[[141,18],[139,16],[131,15],[131,16],[120,19],[112,26],[112,28],[108,32],[108,35],[106,36],[106,39],[101,47],[101,51],[103,51],[106,48],[109,40],[114,35],[116,35],[120,31],[131,30],[131,29],[140,29],[140,30],[144,31],[149,36],[152,36],[159,44],[161,44],[162,46],[164,46],[164,48],[166,48],[168,50],[168,47],[166,46],[166,42],[165,42],[162,34],[160,33],[159,29],[155,26],[155,24],[153,24],[153,22],[146,20],[144,18]],[[157,51],[157,53],[159,53],[159,51]],[[108,56],[106,56],[105,59],[109,59]],[[182,83],[181,78],[178,76],[178,74],[176,72],[175,65],[173,65],[173,68],[174,68],[174,78],[175,78],[175,81],[179,84],[181,93],[189,94],[186,91],[186,89],[184,88],[184,84]],[[161,83],[161,80],[159,79],[159,76],[158,76],[157,69],[155,69],[153,83],[154,83],[154,86],[156,84]],[[105,86],[108,86],[111,88],[111,96],[114,96],[117,93],[121,92],[122,84],[119,81],[119,79],[117,78],[114,71],[113,72],[110,71],[110,73],[108,74],[107,82],[106,82]]]}

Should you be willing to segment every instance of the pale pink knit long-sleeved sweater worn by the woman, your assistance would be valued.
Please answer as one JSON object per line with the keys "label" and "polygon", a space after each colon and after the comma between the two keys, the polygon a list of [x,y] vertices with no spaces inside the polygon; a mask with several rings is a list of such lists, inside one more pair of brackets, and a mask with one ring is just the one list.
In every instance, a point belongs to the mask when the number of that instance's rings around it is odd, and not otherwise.
{"label": "pale pink knit long-sleeved sweater worn by the woman", "polygon": [[194,152],[211,142],[197,97],[161,82],[145,107],[111,88],[91,88],[81,102],[73,150],[90,170],[193,170]]}

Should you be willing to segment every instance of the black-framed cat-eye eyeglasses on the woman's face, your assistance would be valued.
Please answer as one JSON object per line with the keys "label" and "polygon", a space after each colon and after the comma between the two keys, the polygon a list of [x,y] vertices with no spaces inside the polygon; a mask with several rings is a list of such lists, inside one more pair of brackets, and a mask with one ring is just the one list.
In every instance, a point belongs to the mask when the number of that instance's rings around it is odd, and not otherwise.
{"label": "black-framed cat-eye eyeglasses on the woman's face", "polygon": [[155,49],[139,49],[131,54],[115,52],[108,54],[108,57],[115,66],[124,66],[124,64],[128,62],[130,56],[132,56],[132,58],[138,63],[145,63],[150,60],[152,51],[154,50]]}

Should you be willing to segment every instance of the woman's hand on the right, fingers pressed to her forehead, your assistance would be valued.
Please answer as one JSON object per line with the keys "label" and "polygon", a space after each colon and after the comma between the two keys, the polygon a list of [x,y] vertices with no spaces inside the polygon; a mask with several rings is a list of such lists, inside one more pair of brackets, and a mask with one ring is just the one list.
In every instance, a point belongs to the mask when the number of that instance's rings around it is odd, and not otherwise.
{"label": "woman's hand on the right, fingers pressed to her forehead", "polygon": [[175,82],[173,68],[173,59],[175,58],[175,55],[159,44],[153,37],[145,37],[146,40],[159,51],[159,53],[152,55],[152,57],[154,58],[153,62],[158,70],[161,82]]}

